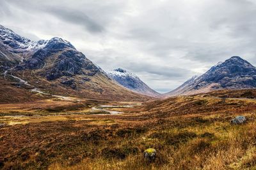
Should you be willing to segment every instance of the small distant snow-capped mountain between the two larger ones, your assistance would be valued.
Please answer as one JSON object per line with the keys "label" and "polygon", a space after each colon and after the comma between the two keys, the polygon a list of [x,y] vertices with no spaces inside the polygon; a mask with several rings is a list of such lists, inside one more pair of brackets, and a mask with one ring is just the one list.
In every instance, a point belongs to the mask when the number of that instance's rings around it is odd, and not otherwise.
{"label": "small distant snow-capped mountain between the two larger ones", "polygon": [[145,94],[147,96],[159,96],[159,93],[153,89],[150,89],[150,87],[141,81],[138,76],[129,71],[126,71],[125,69],[114,69],[109,71],[108,74],[111,76],[111,78],[116,80],[118,83],[120,83],[120,85],[126,87],[127,89],[138,92],[140,94]]}

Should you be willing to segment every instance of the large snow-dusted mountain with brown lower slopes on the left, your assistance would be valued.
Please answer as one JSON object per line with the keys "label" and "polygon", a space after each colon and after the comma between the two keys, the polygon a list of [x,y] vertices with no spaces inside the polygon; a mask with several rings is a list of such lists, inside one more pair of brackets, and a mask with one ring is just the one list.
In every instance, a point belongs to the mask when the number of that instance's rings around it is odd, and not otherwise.
{"label": "large snow-dusted mountain with brown lower slopes on the left", "polygon": [[0,26],[0,35],[0,97],[3,101],[6,89],[10,90],[10,96],[16,96],[15,92],[26,94],[16,97],[18,99],[27,99],[28,93],[32,96],[38,92],[121,101],[148,99],[109,78],[65,39],[31,41],[3,26]]}

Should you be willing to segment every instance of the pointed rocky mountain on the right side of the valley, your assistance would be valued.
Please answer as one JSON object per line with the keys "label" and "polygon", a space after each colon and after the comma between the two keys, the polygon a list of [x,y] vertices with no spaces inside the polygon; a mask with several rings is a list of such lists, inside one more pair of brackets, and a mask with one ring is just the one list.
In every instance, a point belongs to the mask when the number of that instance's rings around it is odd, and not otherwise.
{"label": "pointed rocky mountain on the right side of the valley", "polygon": [[199,94],[221,89],[256,88],[256,67],[241,57],[234,56],[219,62],[202,76],[191,78],[164,97]]}

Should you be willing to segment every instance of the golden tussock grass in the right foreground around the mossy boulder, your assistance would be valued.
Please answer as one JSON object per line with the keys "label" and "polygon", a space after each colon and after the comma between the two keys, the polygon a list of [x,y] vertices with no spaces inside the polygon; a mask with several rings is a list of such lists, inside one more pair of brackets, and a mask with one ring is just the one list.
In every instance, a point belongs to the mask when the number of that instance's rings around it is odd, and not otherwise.
{"label": "golden tussock grass in the right foreground around the mossy boulder", "polygon": [[[252,169],[256,166],[255,125],[214,122],[204,127],[154,129],[141,136],[123,136],[113,146],[104,146],[95,159],[86,158],[75,166],[57,162],[49,169]],[[156,162],[143,159],[147,147],[156,148]]]}

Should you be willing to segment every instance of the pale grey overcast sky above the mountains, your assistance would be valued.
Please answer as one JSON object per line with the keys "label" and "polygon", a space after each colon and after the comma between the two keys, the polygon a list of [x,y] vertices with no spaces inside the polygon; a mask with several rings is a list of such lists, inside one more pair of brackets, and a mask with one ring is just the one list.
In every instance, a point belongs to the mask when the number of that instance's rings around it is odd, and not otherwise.
{"label": "pale grey overcast sky above the mountains", "polygon": [[60,37],[88,59],[169,92],[238,55],[256,65],[255,0],[0,0],[0,24]]}

